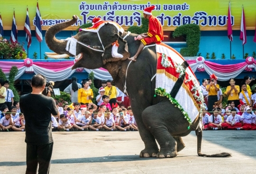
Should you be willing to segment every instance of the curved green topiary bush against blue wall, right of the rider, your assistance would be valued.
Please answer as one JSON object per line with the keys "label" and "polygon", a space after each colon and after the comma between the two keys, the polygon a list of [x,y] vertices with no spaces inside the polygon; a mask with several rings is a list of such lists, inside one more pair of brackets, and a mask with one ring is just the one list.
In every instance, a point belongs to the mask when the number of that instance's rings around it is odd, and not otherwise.
{"label": "curved green topiary bush against blue wall, right of the rider", "polygon": [[173,33],[173,37],[185,35],[187,38],[187,48],[181,49],[181,55],[184,57],[196,56],[199,51],[200,27],[196,24],[186,24],[178,26]]}

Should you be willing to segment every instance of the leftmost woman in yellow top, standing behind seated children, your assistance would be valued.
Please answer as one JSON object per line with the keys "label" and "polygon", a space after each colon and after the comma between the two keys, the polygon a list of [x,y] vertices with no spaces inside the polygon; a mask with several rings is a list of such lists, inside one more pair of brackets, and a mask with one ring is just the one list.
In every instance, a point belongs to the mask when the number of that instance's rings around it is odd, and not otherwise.
{"label": "leftmost woman in yellow top, standing behind seated children", "polygon": [[89,89],[89,82],[87,80],[82,81],[83,88],[80,88],[77,92],[78,103],[84,105],[85,103],[92,103],[93,98],[92,89]]}

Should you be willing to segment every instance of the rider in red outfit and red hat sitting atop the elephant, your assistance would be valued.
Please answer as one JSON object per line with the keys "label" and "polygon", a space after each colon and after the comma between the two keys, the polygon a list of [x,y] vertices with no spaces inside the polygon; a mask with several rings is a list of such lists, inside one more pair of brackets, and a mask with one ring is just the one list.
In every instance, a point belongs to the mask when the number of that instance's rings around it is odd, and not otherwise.
{"label": "rider in red outfit and red hat sitting atop the elephant", "polygon": [[145,45],[164,40],[163,26],[161,25],[160,21],[151,13],[154,8],[155,6],[147,7],[143,11],[143,17],[149,20],[148,33],[142,33],[134,38],[135,40],[140,40],[141,43],[136,54],[133,57],[128,58],[132,61],[136,61],[137,56],[143,50]]}

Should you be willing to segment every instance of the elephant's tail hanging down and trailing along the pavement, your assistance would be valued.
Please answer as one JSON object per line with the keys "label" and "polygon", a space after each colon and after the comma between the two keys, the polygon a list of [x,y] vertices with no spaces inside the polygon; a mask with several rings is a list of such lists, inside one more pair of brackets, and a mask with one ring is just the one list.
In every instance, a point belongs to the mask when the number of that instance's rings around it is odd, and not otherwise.
{"label": "elephant's tail hanging down and trailing along the pavement", "polygon": [[198,128],[196,131],[196,136],[197,136],[197,154],[200,157],[231,157],[230,153],[217,153],[217,154],[213,154],[213,155],[206,155],[206,154],[202,154],[201,153],[201,143],[202,143],[202,130],[200,130],[200,128]]}

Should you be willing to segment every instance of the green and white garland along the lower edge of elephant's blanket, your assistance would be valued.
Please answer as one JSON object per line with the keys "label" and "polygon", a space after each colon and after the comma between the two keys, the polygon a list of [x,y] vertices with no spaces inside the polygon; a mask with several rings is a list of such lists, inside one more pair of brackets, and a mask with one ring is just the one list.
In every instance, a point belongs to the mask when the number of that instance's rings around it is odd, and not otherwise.
{"label": "green and white garland along the lower edge of elephant's blanket", "polygon": [[165,92],[165,89],[163,89],[161,87],[155,88],[154,97],[156,97],[156,95],[159,95],[162,97],[167,97],[167,99],[169,99],[171,101],[171,103],[174,105],[174,107],[178,107],[181,110],[181,112],[183,113],[184,118],[187,119],[187,121],[189,122],[189,126],[187,127],[187,129],[190,129],[190,125],[192,124],[192,121],[191,121],[190,117],[188,116],[188,113],[186,111],[184,111],[184,109],[179,104],[179,102],[176,99],[174,99],[170,94]]}

